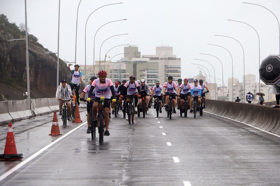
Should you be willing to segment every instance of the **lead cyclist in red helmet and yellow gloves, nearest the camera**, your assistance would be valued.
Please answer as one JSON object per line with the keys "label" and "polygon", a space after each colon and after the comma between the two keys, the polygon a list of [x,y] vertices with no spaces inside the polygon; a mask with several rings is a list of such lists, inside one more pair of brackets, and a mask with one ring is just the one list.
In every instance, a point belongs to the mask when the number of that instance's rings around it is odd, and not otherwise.
{"label": "lead cyclist in red helmet and yellow gloves, nearest the camera", "polygon": [[[95,89],[95,101],[92,104],[92,112],[94,115],[95,119],[95,124],[97,124],[97,112],[98,112],[98,105],[100,101],[100,97],[104,97],[105,101],[110,101],[111,100],[111,94],[112,94],[112,102],[115,102],[115,90],[114,90],[114,85],[111,79],[106,78],[107,72],[104,70],[101,70],[98,72],[99,79],[96,79],[92,82],[90,90],[88,92],[88,99],[87,101],[89,102],[90,95],[92,94],[93,89]],[[104,135],[108,136],[110,135],[108,131],[109,127],[109,109],[110,109],[110,103],[109,102],[104,102],[104,115],[105,115],[105,126],[106,130]]]}

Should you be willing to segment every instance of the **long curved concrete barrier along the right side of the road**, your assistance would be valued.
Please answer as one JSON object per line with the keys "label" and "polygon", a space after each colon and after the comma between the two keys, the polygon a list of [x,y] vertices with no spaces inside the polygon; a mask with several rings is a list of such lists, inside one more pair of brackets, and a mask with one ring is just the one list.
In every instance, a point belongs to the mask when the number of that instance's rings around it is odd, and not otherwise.
{"label": "long curved concrete barrier along the right side of the road", "polygon": [[205,111],[280,135],[280,109],[249,103],[207,100]]}

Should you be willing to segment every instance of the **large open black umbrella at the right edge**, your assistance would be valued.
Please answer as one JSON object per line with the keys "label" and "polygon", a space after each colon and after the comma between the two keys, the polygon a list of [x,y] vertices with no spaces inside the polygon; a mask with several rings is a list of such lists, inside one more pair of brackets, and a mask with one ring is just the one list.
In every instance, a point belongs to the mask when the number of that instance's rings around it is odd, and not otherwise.
{"label": "large open black umbrella at the right edge", "polygon": [[276,85],[280,81],[280,56],[269,55],[262,60],[259,73],[266,85]]}

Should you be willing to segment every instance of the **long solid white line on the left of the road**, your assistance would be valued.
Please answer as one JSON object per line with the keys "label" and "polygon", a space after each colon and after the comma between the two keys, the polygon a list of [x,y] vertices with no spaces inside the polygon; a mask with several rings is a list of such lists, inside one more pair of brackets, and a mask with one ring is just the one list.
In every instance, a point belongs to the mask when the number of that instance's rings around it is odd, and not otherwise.
{"label": "long solid white line on the left of the road", "polygon": [[45,151],[46,149],[48,149],[50,146],[56,144],[57,142],[59,142],[60,140],[62,140],[64,137],[68,136],[69,134],[73,133],[75,130],[77,130],[78,128],[84,126],[85,124],[87,124],[87,122],[77,126],[76,128],[74,128],[73,130],[69,131],[68,133],[66,133],[65,135],[61,136],[60,138],[58,138],[57,140],[51,142],[50,144],[48,144],[47,146],[43,147],[41,150],[37,151],[35,154],[31,155],[29,158],[27,158],[26,160],[24,160],[23,162],[21,162],[20,164],[18,164],[17,166],[15,166],[14,168],[10,169],[8,172],[6,172],[5,174],[3,174],[2,176],[0,176],[0,181],[3,180],[4,178],[6,178],[7,176],[9,176],[10,174],[12,174],[14,171],[16,171],[17,169],[19,169],[20,167],[22,167],[24,164],[28,163],[30,160],[32,160],[33,158],[35,158],[36,156],[38,156],[39,154],[41,154],[43,151]]}

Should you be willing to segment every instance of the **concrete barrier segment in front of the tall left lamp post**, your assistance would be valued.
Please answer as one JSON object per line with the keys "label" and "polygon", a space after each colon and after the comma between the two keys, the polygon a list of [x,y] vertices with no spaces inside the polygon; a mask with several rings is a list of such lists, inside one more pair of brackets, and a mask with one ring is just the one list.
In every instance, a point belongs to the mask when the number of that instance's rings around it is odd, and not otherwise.
{"label": "concrete barrier segment in front of the tall left lamp post", "polygon": [[31,101],[28,99],[8,101],[8,109],[13,121],[34,117],[34,114],[31,111]]}

